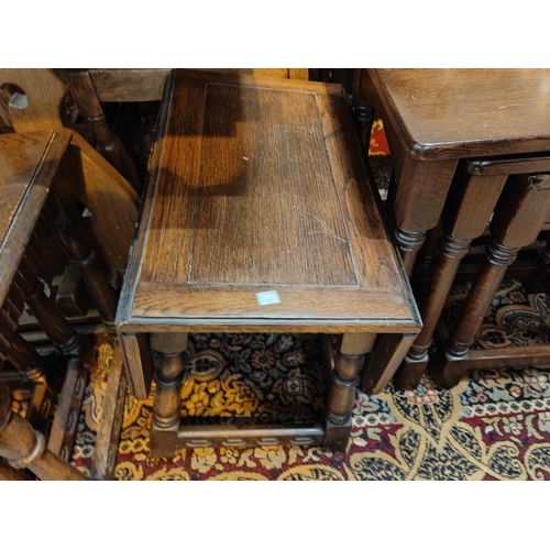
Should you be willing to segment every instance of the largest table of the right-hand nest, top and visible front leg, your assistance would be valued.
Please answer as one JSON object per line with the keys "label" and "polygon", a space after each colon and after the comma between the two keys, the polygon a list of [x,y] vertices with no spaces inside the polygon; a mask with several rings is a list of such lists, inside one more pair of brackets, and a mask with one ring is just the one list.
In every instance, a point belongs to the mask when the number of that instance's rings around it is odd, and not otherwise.
{"label": "largest table of the right-hand nest, top and visible front leg", "polygon": [[550,151],[550,69],[361,69],[394,158],[395,237],[413,273],[461,158]]}

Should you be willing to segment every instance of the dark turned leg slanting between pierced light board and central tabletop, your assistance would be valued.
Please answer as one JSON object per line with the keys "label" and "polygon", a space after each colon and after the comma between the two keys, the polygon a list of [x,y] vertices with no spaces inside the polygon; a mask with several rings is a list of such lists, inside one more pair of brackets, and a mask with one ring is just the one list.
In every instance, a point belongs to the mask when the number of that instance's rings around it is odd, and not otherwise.
{"label": "dark turned leg slanting between pierced light board and central tabletop", "polygon": [[91,125],[96,150],[107,158],[141,193],[141,179],[124,145],[107,124],[101,103],[87,70],[74,70],[70,90],[82,119]]}

